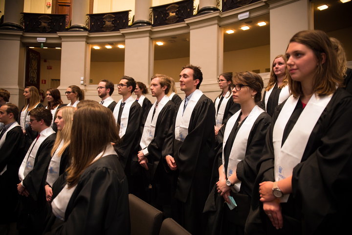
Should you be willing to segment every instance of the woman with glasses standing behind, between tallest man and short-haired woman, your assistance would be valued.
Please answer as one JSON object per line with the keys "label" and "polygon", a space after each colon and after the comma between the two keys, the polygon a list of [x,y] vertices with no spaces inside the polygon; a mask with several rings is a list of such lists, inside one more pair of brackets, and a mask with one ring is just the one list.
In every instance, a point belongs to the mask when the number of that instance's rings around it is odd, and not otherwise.
{"label": "woman with glasses standing behind, between tallest man and short-haired woman", "polygon": [[240,105],[233,102],[231,95],[232,73],[222,73],[218,79],[219,88],[222,90],[215,99],[215,135],[217,136],[226,118],[231,117],[240,109]]}

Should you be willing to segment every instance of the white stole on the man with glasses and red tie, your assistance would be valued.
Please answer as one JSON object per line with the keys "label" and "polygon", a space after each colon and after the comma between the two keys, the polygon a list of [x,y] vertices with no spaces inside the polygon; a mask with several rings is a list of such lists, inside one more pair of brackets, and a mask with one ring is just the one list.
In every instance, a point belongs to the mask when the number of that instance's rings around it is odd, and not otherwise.
{"label": "white stole on the man with glasses and red tie", "polygon": [[38,140],[34,140],[32,142],[32,144],[29,147],[29,149],[23,159],[23,162],[20,166],[19,178],[21,181],[33,169],[35,158],[37,156],[37,151],[38,151],[40,145],[42,144],[42,142],[45,141],[45,139],[48,136],[50,136],[51,134],[54,134],[54,133],[55,133],[55,131],[53,131],[53,129],[51,129],[51,127],[48,127],[40,133],[40,137],[38,138]]}

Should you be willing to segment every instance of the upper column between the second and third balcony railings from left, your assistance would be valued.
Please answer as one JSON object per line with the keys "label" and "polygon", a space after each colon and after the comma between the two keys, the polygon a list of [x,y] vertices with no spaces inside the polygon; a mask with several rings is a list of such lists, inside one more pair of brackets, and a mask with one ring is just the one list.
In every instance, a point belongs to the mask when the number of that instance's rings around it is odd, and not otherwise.
{"label": "upper column between the second and third balcony railings from left", "polygon": [[132,27],[152,25],[152,23],[149,21],[151,6],[152,0],[135,0],[134,22],[132,23]]}

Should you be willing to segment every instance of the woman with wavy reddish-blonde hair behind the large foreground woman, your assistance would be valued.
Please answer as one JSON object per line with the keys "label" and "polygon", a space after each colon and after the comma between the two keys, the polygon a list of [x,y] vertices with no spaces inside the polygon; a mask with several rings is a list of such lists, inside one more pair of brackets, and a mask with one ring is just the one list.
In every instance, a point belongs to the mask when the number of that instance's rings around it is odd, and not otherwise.
{"label": "woman with wavy reddish-blonde hair behind the large foreground woman", "polygon": [[259,106],[270,116],[273,115],[276,106],[285,101],[290,95],[288,77],[286,56],[276,56],[272,63],[269,83],[265,88],[262,102],[259,103]]}

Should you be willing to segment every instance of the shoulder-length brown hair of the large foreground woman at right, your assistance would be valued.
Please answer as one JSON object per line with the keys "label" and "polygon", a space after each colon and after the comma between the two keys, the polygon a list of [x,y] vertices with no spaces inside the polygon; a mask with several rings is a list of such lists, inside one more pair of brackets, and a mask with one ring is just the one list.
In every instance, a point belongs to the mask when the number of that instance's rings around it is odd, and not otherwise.
{"label": "shoulder-length brown hair of the large foreground woman at right", "polygon": [[[300,31],[293,35],[289,42],[303,44],[314,52],[315,58],[318,61],[313,81],[314,93],[317,93],[318,95],[328,95],[336,91],[336,86],[342,86],[343,77],[339,74],[339,69],[337,67],[336,52],[325,32],[321,30]],[[326,56],[324,63],[322,56],[323,53]],[[291,94],[294,96],[298,97],[303,94],[300,82],[294,81],[289,77],[288,85]]]}

